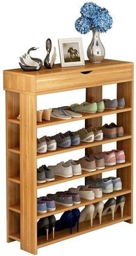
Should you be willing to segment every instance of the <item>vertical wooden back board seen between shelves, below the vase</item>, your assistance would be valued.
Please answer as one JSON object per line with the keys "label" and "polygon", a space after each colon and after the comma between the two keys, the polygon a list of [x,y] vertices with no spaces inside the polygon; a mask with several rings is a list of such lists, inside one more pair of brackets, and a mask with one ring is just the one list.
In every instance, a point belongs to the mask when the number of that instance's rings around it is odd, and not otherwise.
{"label": "vertical wooden back board seen between shelves, below the vase", "polygon": [[[100,101],[102,100],[102,86],[97,86],[93,88],[87,88],[86,89],[86,102],[92,102],[92,101]],[[91,118],[87,119],[85,122],[85,127],[89,128],[91,125],[94,127],[101,127],[102,126],[102,117],[97,117],[97,118]],[[85,150],[86,156],[88,156],[90,153],[98,153],[101,152],[102,150],[102,145],[97,146],[97,147],[89,147],[88,149]],[[90,177],[86,177],[85,181],[89,179],[95,179],[95,178],[101,178],[102,174],[98,175],[93,175]]]}

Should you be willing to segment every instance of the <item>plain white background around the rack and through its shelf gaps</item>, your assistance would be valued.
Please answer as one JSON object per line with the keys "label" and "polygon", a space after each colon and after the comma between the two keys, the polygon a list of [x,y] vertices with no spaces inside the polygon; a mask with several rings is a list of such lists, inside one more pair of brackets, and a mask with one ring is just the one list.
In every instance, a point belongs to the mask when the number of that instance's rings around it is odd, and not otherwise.
{"label": "plain white background around the rack and through its shelf gaps", "polygon": [[[0,214],[0,237],[1,237],[1,253],[4,255],[27,255],[21,251],[19,242],[6,243],[6,175],[5,175],[5,92],[2,84],[2,70],[19,67],[19,56],[23,55],[32,46],[39,46],[40,49],[33,53],[33,56],[44,59],[46,55],[45,41],[49,37],[52,39],[53,45],[57,48],[57,61],[60,62],[58,51],[58,38],[82,37],[84,57],[86,56],[87,46],[90,44],[92,34],[80,35],[74,27],[75,19],[79,17],[80,6],[84,0],[57,0],[57,1],[1,1],[0,3],[0,21],[1,21],[1,47],[0,47],[0,70],[1,70],[1,86],[0,86],[0,102],[1,102],[1,171],[0,171],[0,198],[1,198],[1,214]],[[113,17],[113,28],[106,34],[101,34],[101,41],[105,46],[106,58],[119,59],[134,62],[135,61],[135,1],[109,1],[95,0],[98,5],[107,8]],[[116,87],[116,86],[115,86]],[[106,92],[106,93],[105,93]],[[116,90],[113,86],[105,86],[103,97],[116,97]],[[67,97],[66,97],[67,95]],[[66,100],[67,98],[67,100]],[[56,93],[52,96],[47,95],[38,97],[38,109],[46,109],[47,107],[61,106],[63,104],[81,103],[84,101],[84,90],[79,92]],[[105,118],[104,122],[116,121],[116,117]],[[38,131],[38,136],[53,135],[58,131],[67,131],[67,129],[76,130],[83,127],[83,121],[76,121],[73,124],[56,125],[50,131],[42,128]],[[135,131],[135,129],[134,129]],[[115,148],[116,145],[104,147],[104,150]],[[84,151],[78,150],[74,153],[74,158],[78,159],[83,156]],[[65,154],[64,154],[65,155]],[[41,164],[57,164],[61,160],[72,158],[73,153],[67,156],[58,155],[56,157],[42,158],[38,161]],[[135,156],[135,150],[134,150]],[[74,159],[73,158],[73,159]],[[135,157],[134,157],[135,158]],[[46,162],[45,162],[46,161]],[[135,165],[134,165],[135,167]],[[111,174],[106,174],[111,175]],[[134,168],[135,181],[135,168]],[[68,189],[69,186],[83,184],[83,180],[77,182],[67,182],[65,185],[54,186],[52,192],[57,190]],[[135,185],[135,182],[134,182]],[[49,190],[50,191],[50,190]],[[40,194],[46,194],[48,190],[40,190]],[[50,191],[51,192],[51,191]],[[135,199],[135,195],[134,195]],[[134,204],[135,208],[135,204]],[[135,222],[135,209],[134,209]],[[73,239],[53,244],[38,251],[39,255],[128,255],[130,251],[135,251],[135,228],[136,224],[130,225],[122,222],[117,225],[109,226],[95,232],[88,233]]]}

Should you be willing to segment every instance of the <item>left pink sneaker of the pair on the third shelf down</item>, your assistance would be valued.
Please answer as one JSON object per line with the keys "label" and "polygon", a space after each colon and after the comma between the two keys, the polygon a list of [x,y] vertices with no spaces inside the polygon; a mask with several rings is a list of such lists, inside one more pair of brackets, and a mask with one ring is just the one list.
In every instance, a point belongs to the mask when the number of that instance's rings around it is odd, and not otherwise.
{"label": "left pink sneaker of the pair on the third shelf down", "polygon": [[116,164],[115,152],[101,152],[97,154],[99,157],[103,157],[106,166],[112,166]]}

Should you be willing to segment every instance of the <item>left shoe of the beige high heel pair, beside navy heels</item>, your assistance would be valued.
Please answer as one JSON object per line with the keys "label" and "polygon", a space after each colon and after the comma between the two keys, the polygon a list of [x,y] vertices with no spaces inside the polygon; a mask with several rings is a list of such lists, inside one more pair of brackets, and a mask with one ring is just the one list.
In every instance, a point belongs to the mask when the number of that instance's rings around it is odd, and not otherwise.
{"label": "left shoe of the beige high heel pair, beside navy heels", "polygon": [[93,215],[94,215],[95,207],[93,204],[87,205],[84,209],[80,212],[79,222],[89,221],[90,225],[93,226]]}

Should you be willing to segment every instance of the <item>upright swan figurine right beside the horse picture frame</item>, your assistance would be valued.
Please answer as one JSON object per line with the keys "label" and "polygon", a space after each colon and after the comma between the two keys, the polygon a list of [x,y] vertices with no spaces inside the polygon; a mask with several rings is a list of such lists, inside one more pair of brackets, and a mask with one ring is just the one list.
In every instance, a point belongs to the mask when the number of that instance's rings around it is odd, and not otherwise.
{"label": "upright swan figurine right beside the horse picture frame", "polygon": [[56,47],[54,47],[52,59],[50,60],[50,52],[52,51],[52,41],[50,40],[50,38],[46,40],[46,50],[47,50],[47,55],[44,60],[44,65],[46,68],[50,69],[54,67],[54,62],[56,61]]}

